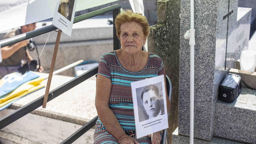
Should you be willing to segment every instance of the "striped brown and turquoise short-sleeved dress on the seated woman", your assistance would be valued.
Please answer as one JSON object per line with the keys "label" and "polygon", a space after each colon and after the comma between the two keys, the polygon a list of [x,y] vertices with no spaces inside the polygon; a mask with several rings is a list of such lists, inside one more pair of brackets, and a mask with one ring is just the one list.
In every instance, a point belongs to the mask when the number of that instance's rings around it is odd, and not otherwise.
{"label": "striped brown and turquoise short-sleeved dress on the seated woman", "polygon": [[[139,72],[131,72],[120,64],[116,51],[107,52],[100,57],[98,74],[111,79],[109,108],[115,114],[124,132],[136,139],[131,83],[159,75],[165,76],[162,59],[156,54],[148,52],[148,60],[145,67]],[[136,140],[140,144],[151,144],[151,138],[148,136]],[[118,144],[117,140],[108,133],[100,119],[96,122],[94,143]]]}

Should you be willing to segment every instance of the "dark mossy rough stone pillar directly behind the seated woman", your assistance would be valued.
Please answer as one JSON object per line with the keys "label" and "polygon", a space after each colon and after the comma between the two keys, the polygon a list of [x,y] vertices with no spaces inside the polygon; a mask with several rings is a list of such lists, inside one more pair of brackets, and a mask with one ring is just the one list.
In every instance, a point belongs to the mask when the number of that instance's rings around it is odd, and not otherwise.
{"label": "dark mossy rough stone pillar directly behind the seated woman", "polygon": [[164,70],[172,82],[169,114],[169,141],[178,126],[179,67],[180,67],[180,0],[157,1],[157,24],[150,27],[148,51],[163,59]]}

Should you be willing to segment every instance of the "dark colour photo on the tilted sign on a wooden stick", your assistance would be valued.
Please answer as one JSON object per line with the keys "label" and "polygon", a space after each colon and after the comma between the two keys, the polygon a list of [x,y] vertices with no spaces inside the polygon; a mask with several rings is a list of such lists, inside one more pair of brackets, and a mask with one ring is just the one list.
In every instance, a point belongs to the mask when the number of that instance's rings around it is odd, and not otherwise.
{"label": "dark colour photo on the tilted sign on a wooden stick", "polygon": [[60,0],[58,12],[71,21],[75,0]]}

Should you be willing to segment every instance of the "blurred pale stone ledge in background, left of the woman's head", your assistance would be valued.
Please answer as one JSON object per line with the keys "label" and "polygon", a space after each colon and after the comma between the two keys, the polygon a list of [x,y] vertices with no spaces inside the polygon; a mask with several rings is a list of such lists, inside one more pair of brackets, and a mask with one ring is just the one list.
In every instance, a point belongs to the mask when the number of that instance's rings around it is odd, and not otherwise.
{"label": "blurred pale stone ledge in background, left of the woman's head", "polygon": [[[113,18],[109,18],[113,20]],[[36,29],[42,28],[42,24],[46,26],[51,25],[52,21],[38,22],[36,23]],[[113,38],[113,24],[108,24],[108,18],[103,19],[88,19],[73,25],[71,37],[68,35],[61,35],[60,44],[63,42],[77,42],[77,41],[89,41],[89,40],[100,40],[100,39],[112,39]],[[9,32],[10,30],[8,30]],[[0,37],[3,39],[7,31],[0,32]],[[49,33],[33,37],[36,44],[45,44]],[[50,33],[47,44],[55,44],[57,32],[52,31]]]}

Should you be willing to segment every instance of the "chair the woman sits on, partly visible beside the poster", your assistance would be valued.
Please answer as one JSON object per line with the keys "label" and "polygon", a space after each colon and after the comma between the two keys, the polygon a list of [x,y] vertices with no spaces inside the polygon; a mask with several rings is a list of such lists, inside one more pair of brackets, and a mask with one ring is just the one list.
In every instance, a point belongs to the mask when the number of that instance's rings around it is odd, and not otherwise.
{"label": "chair the woman sits on, partly visible beside the poster", "polygon": [[[169,100],[171,102],[171,98],[172,98],[172,82],[171,82],[170,78],[167,75],[165,77],[165,81],[166,81],[167,95],[168,95]],[[169,117],[169,113],[168,113],[168,117]],[[161,140],[160,144],[169,144],[169,137],[168,137],[167,129],[163,130],[162,140]]]}

